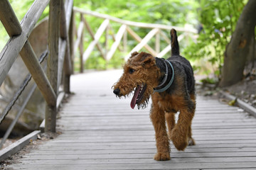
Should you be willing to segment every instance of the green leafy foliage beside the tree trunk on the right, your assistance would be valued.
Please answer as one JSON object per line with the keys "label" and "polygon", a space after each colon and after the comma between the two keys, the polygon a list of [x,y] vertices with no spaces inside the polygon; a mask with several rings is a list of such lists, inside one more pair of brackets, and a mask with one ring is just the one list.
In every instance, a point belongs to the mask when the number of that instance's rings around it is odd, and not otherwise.
{"label": "green leafy foliage beside the tree trunk on the right", "polygon": [[208,1],[199,0],[198,20],[203,30],[197,42],[186,48],[184,54],[190,60],[203,60],[213,65],[213,73],[220,77],[223,66],[223,53],[235,30],[242,8],[247,1],[225,0]]}

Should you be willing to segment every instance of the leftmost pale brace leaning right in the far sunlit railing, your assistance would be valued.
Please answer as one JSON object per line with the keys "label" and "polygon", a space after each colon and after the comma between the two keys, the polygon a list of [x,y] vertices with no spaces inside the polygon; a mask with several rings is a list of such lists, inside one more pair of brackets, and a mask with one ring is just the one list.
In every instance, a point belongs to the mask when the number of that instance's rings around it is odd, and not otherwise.
{"label": "leftmost pale brace leaning right in the far sunlit railing", "polygon": [[82,55],[82,60],[85,62],[87,60],[87,58],[90,56],[93,48],[95,47],[95,45],[97,44],[97,42],[100,40],[100,36],[102,35],[102,33],[105,31],[105,29],[107,28],[108,24],[110,23],[110,20],[106,19],[105,21],[102,22],[102,24],[100,25],[100,27],[98,28],[96,34],[95,34],[95,40],[93,40],[92,42],[90,42],[90,45],[87,47],[87,49],[85,50],[84,54]]}

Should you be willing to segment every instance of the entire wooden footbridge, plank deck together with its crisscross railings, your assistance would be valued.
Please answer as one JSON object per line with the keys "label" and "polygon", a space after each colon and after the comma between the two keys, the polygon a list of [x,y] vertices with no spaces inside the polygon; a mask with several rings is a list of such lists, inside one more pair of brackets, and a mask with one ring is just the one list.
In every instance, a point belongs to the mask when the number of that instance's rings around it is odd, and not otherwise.
{"label": "entire wooden footbridge, plank deck together with its crisscross railings", "polygon": [[[48,49],[41,55],[48,57],[45,73],[40,64],[41,58],[38,60],[33,52],[28,37],[48,4]],[[80,15],[78,24],[75,23],[75,15]],[[96,33],[93,33],[85,15],[102,18],[102,24]],[[31,152],[22,155],[16,164],[1,165],[4,169],[256,168],[256,120],[241,109],[227,106],[214,98],[198,96],[196,116],[193,120],[193,137],[197,145],[188,147],[185,152],[178,152],[171,145],[171,161],[156,162],[153,159],[156,148],[154,129],[149,120],[149,108],[132,110],[129,108],[129,98],[120,100],[112,94],[111,86],[122,71],[72,75],[76,60],[74,55],[80,55],[82,72],[83,63],[95,47],[106,61],[111,59],[116,50],[124,52],[126,59],[130,52],[142,48],[152,55],[163,57],[171,50],[166,32],[174,28],[173,26],[134,23],[82,11],[73,7],[72,0],[36,0],[21,23],[18,23],[9,1],[2,0],[0,18],[10,36],[0,53],[0,84],[6,79],[18,54],[30,72],[21,89],[16,91],[11,102],[1,113],[0,121],[4,120],[14,106],[29,77],[35,81],[5,137],[8,137],[14,128],[36,86],[46,101],[45,132],[61,133],[53,140],[36,145]],[[119,24],[116,34],[112,30],[112,22]],[[149,32],[141,38],[132,30],[134,26],[145,28]],[[193,38],[196,33],[191,28],[175,28],[180,35],[179,40],[189,36]],[[83,40],[85,29],[87,36],[90,36],[90,42]],[[100,38],[104,32],[102,44]],[[130,52],[127,51],[128,38],[138,42]],[[164,42],[166,44],[163,44]],[[154,48],[148,43],[154,44]],[[108,47],[110,44],[111,47]],[[63,94],[70,94],[70,91],[75,94],[57,112]]]}

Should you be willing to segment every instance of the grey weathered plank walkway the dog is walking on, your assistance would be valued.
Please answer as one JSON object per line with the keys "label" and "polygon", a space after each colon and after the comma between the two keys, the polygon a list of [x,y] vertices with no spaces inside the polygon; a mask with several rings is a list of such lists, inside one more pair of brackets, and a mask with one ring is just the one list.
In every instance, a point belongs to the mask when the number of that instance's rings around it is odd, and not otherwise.
{"label": "grey weathered plank walkway the dog is walking on", "polygon": [[156,162],[149,108],[132,110],[111,86],[122,72],[71,77],[75,95],[60,110],[54,140],[23,155],[14,169],[256,169],[256,119],[239,108],[198,96],[196,145]]}

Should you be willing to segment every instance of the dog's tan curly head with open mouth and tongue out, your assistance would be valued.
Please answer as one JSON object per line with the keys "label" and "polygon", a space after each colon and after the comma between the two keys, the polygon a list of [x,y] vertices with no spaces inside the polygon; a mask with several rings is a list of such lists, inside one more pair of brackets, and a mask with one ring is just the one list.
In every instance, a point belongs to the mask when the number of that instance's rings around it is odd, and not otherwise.
{"label": "dog's tan curly head with open mouth and tongue out", "polygon": [[114,84],[114,94],[118,97],[132,94],[131,107],[146,108],[154,86],[158,84],[160,71],[156,67],[155,57],[146,52],[133,52],[124,64],[124,73]]}

